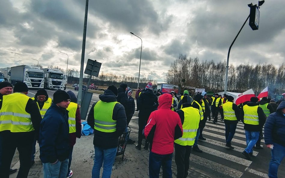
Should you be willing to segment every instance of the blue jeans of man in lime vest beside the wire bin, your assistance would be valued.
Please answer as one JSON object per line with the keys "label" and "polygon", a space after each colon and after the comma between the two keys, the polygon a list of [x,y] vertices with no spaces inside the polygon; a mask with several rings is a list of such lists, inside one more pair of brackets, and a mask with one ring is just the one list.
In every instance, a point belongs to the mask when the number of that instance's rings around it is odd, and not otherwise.
{"label": "blue jeans of man in lime vest beside the wire bin", "polygon": [[95,159],[94,165],[92,169],[92,178],[99,178],[100,177],[100,169],[103,164],[103,173],[102,178],[110,178],[112,173],[112,166],[115,161],[115,157],[117,154],[117,147],[103,149],[97,146],[95,148]]}

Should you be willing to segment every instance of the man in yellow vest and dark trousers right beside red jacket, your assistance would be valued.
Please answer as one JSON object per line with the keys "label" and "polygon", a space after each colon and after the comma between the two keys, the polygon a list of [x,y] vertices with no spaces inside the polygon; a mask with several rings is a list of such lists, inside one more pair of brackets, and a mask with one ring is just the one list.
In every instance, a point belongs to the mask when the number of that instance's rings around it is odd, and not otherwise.
{"label": "man in yellow vest and dark trousers right beside red jacket", "polygon": [[174,140],[175,163],[177,166],[177,177],[184,178],[188,176],[191,147],[196,139],[201,116],[199,110],[192,107],[191,103],[183,103],[182,109],[178,110],[177,113],[181,119],[183,135],[179,139]]}

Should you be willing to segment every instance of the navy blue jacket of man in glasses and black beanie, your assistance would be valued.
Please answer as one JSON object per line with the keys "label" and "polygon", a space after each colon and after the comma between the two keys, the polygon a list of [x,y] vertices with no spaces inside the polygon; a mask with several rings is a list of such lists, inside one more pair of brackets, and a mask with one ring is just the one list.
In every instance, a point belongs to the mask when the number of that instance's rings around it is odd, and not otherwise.
{"label": "navy blue jacket of man in glasses and black beanie", "polygon": [[69,156],[68,111],[52,103],[41,120],[40,159],[43,163],[63,161]]}

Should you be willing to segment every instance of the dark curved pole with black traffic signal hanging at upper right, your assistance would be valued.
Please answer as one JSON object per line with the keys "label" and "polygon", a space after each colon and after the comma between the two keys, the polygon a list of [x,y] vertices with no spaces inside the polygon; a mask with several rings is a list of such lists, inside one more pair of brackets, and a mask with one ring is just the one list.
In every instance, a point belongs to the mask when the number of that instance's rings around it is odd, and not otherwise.
{"label": "dark curved pole with black traffic signal hanging at upper right", "polygon": [[[258,26],[259,26],[259,8],[260,6],[264,3],[264,1],[258,1],[258,5],[253,5],[248,4],[247,6],[250,7],[250,14],[247,17],[247,20],[250,19],[250,27],[253,30],[257,30]],[[247,20],[245,20],[244,24],[242,25],[240,31],[237,33],[237,36],[240,34],[242,28],[244,28],[245,23],[247,22]],[[235,40],[237,39],[237,36],[234,38],[234,41],[231,43],[231,46],[228,49],[228,58],[227,58],[227,66],[226,66],[226,74],[225,74],[225,91],[224,93],[227,94],[227,87],[228,87],[228,60],[230,57],[230,51],[231,51],[231,47],[233,46]]]}

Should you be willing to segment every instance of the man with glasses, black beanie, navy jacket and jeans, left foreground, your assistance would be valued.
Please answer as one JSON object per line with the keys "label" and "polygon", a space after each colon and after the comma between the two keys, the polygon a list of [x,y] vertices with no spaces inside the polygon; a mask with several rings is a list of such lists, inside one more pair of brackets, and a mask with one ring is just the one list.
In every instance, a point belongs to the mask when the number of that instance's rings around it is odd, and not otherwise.
{"label": "man with glasses, black beanie, navy jacket and jeans, left foreground", "polygon": [[44,178],[66,178],[69,157],[68,111],[71,98],[63,90],[54,92],[54,101],[41,121],[39,146]]}

